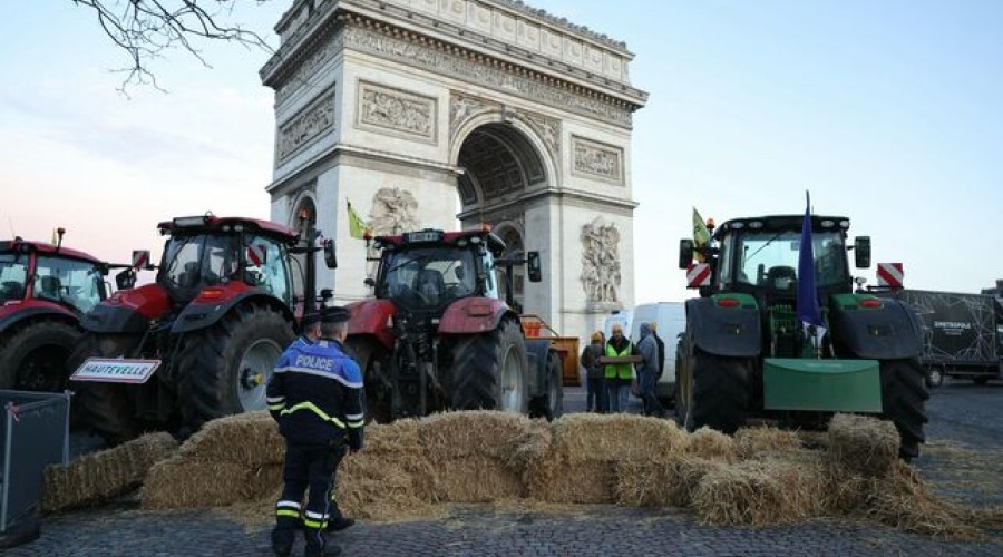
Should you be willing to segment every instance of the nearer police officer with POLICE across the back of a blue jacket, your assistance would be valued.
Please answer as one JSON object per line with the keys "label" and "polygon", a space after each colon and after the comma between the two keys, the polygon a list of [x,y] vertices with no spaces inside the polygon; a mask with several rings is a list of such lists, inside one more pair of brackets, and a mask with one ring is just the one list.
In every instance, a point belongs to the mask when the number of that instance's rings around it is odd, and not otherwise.
{"label": "nearer police officer with POLICE across the back of a blue jacket", "polygon": [[[279,358],[269,383],[269,411],[285,438],[285,487],[275,505],[272,549],[292,550],[301,521],[308,557],[331,556],[341,548],[327,544],[330,491],[334,470],[345,449],[362,448],[362,373],[342,348],[349,311],[324,307],[315,342],[293,342]],[[301,501],[310,488],[306,507]]]}

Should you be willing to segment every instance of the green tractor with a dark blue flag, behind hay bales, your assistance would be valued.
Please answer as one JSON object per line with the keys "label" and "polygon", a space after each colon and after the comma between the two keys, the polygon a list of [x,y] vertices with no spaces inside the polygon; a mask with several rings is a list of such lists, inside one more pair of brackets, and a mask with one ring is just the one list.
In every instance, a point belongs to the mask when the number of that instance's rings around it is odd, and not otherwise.
{"label": "green tractor with a dark blue flag, behind hay bales", "polygon": [[681,426],[732,433],[752,417],[809,428],[870,413],[895,423],[902,458],[919,455],[919,323],[897,300],[854,293],[847,254],[870,266],[870,238],[848,245],[848,228],[807,214],[736,218],[700,246],[680,242],[680,268],[700,290],[676,351]]}

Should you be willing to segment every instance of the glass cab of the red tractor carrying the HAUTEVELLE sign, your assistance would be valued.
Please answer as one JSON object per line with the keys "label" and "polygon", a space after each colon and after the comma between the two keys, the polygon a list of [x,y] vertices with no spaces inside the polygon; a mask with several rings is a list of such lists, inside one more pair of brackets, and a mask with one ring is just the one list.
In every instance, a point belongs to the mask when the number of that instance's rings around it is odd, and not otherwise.
{"label": "glass cab of the red tractor carrying the HAUTEVELLE sign", "polygon": [[[156,282],[175,306],[185,306],[206,289],[234,284],[262,289],[292,305],[289,250],[295,229],[266,221],[178,217],[158,225],[168,235]],[[212,292],[212,290],[210,291]]]}

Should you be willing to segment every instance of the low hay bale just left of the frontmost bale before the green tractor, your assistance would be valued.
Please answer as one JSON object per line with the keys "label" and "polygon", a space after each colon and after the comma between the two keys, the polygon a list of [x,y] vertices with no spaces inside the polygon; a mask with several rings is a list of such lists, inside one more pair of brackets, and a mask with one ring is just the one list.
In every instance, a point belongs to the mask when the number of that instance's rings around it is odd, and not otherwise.
{"label": "low hay bale just left of the frontmost bale before the green tractor", "polygon": [[614,494],[620,505],[685,507],[703,477],[727,465],[691,455],[676,455],[664,462],[616,465]]}

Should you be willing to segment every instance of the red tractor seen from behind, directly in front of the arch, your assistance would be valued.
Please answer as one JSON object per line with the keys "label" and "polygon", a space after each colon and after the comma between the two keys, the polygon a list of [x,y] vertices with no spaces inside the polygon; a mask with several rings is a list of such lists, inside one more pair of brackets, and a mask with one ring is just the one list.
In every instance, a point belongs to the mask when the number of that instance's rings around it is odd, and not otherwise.
{"label": "red tractor seen from behind, directly in front of the arch", "polygon": [[363,369],[369,418],[471,409],[561,414],[557,352],[546,339],[524,336],[508,278],[513,265],[528,262],[529,280],[538,282],[538,253],[500,258],[505,244],[486,228],[373,242],[382,252],[376,280],[367,280],[376,299],[349,306],[348,336]]}

